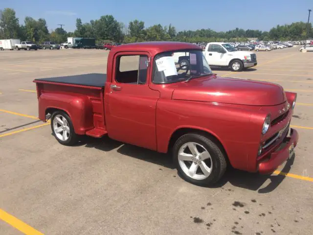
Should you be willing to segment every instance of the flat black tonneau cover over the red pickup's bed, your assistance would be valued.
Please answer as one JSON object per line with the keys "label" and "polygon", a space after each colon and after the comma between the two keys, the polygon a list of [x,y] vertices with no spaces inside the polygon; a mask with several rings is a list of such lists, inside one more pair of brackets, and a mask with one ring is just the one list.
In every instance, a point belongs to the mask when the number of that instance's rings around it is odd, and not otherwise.
{"label": "flat black tonneau cover over the red pickup's bed", "polygon": [[107,81],[107,74],[105,73],[89,73],[65,77],[49,77],[49,78],[38,78],[35,81],[45,82],[58,82],[73,85],[82,85],[89,87],[104,87]]}

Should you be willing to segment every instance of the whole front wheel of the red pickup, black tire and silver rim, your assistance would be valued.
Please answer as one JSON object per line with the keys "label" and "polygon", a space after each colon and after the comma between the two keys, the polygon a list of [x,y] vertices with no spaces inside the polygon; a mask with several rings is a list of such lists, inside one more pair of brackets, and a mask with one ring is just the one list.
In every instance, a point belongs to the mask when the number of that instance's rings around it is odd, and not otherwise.
{"label": "whole front wheel of the red pickup, black tire and silver rim", "polygon": [[179,175],[199,186],[212,186],[226,170],[224,151],[210,137],[199,134],[181,136],[173,147]]}

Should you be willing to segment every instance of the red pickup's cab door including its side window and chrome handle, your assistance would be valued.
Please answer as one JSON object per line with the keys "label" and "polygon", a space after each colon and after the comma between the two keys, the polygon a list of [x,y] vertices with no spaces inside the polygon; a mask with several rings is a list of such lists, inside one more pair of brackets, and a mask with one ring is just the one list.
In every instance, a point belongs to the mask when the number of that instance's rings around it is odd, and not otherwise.
{"label": "red pickup's cab door including its side window and chrome handle", "polygon": [[105,122],[110,138],[156,150],[156,102],[149,88],[151,66],[146,52],[121,52],[113,58],[106,82]]}

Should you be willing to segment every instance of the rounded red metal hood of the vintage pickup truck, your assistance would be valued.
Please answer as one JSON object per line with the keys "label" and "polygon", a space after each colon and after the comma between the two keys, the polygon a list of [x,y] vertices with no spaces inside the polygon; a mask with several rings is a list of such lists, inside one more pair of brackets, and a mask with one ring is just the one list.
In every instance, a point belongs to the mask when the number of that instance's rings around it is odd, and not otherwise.
{"label": "rounded red metal hood of the vintage pickup truck", "polygon": [[286,95],[277,84],[212,75],[179,83],[172,99],[272,106],[285,102]]}

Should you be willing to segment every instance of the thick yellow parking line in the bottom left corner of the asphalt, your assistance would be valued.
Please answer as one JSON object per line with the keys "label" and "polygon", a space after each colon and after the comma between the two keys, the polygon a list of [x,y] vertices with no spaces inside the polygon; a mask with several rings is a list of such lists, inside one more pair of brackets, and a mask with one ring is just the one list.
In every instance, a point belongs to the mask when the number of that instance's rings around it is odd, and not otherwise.
{"label": "thick yellow parking line in the bottom left corner of the asphalt", "polygon": [[0,209],[0,219],[2,219],[4,222],[8,223],[12,227],[20,230],[23,234],[44,235],[41,232],[37,231],[36,229],[30,227],[28,224],[25,224],[23,221],[19,220],[18,218],[1,209]]}

